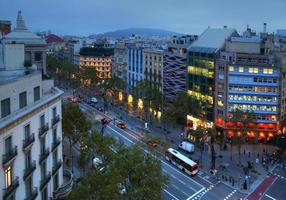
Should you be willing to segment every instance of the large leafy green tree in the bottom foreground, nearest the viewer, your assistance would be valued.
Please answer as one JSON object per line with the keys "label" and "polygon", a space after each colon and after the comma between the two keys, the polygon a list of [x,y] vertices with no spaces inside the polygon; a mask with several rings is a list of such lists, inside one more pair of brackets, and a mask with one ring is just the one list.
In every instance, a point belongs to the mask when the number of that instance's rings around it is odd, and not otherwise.
{"label": "large leafy green tree in the bottom foreground, nearest the viewer", "polygon": [[103,159],[103,168],[91,169],[68,199],[163,199],[161,190],[168,178],[162,175],[159,160],[138,146],[118,146],[108,136],[100,138],[96,131],[85,134],[81,153]]}

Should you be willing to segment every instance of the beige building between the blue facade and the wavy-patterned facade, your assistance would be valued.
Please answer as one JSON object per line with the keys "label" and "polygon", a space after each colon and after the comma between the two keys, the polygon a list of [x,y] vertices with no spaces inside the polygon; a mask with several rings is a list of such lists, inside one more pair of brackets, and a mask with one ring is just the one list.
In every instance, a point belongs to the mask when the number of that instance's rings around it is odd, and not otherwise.
{"label": "beige building between the blue facade and the wavy-patterned facade", "polygon": [[151,81],[163,92],[163,50],[144,49],[143,63],[145,80]]}

